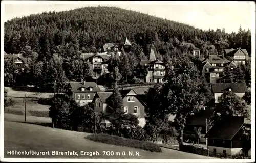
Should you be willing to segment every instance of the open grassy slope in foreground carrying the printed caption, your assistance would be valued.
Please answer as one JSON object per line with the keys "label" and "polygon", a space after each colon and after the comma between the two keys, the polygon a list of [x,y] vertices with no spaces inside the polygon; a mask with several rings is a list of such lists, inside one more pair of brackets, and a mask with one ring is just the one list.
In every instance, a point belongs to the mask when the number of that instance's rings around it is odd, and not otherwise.
{"label": "open grassy slope in foreground carrying the printed caption", "polygon": [[[13,122],[16,121],[16,122]],[[18,122],[19,121],[19,122]],[[5,158],[135,158],[135,159],[211,159],[201,155],[180,152],[162,148],[162,153],[144,151],[141,149],[120,147],[85,139],[90,133],[74,132],[46,127],[30,122],[48,123],[47,118],[30,116],[24,122],[23,116],[5,115],[4,157]],[[16,151],[49,151],[50,155],[7,155],[8,150]],[[52,155],[52,151],[74,151],[78,155]],[[81,155],[81,151],[99,152],[99,156]],[[103,151],[113,151],[113,156],[104,155]],[[122,152],[126,155],[122,155]],[[117,152],[117,153],[116,153]],[[129,152],[134,155],[129,156]],[[135,156],[135,153],[139,155]],[[120,153],[120,155],[119,155]]]}

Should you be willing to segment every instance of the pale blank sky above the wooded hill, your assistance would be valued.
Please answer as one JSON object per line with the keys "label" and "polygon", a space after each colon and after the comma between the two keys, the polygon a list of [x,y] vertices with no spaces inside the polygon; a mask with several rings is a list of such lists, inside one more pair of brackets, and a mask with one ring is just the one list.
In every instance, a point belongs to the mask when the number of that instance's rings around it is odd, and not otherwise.
{"label": "pale blank sky above the wooded hill", "polygon": [[[66,11],[87,6],[115,6],[127,10],[147,13],[208,30],[217,28],[228,33],[252,29],[254,2],[120,2],[120,1],[2,1],[4,21],[49,11]],[[254,7],[254,10],[252,9]],[[254,20],[255,22],[255,20]]]}

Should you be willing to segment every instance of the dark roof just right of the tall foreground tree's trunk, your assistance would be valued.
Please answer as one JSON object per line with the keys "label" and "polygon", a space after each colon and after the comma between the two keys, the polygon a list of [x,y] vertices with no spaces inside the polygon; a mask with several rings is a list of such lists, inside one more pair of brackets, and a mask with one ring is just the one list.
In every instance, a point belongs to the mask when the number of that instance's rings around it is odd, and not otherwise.
{"label": "dark roof just right of the tall foreground tree's trunk", "polygon": [[187,118],[187,125],[206,125],[206,119],[209,119],[214,113],[213,110],[200,110],[193,116]]}

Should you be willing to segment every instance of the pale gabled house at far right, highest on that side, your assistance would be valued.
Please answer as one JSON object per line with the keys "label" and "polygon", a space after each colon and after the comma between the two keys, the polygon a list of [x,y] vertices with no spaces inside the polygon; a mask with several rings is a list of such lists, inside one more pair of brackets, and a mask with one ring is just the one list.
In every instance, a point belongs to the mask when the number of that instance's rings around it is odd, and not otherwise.
{"label": "pale gabled house at far right, highest on that side", "polygon": [[249,60],[249,55],[246,49],[225,49],[225,55],[233,57],[233,61],[236,65],[245,65],[245,62]]}

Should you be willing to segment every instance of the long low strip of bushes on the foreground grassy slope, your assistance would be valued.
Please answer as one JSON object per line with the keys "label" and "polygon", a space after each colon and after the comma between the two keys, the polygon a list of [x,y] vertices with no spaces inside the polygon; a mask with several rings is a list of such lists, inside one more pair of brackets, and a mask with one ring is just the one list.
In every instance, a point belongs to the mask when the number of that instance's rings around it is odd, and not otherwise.
{"label": "long low strip of bushes on the foreground grassy slope", "polygon": [[88,135],[86,138],[92,141],[106,143],[106,144],[139,148],[139,149],[143,149],[151,152],[162,152],[161,148],[157,144],[146,142],[146,141],[139,141],[134,139],[117,137],[114,135],[92,134],[92,135]]}

